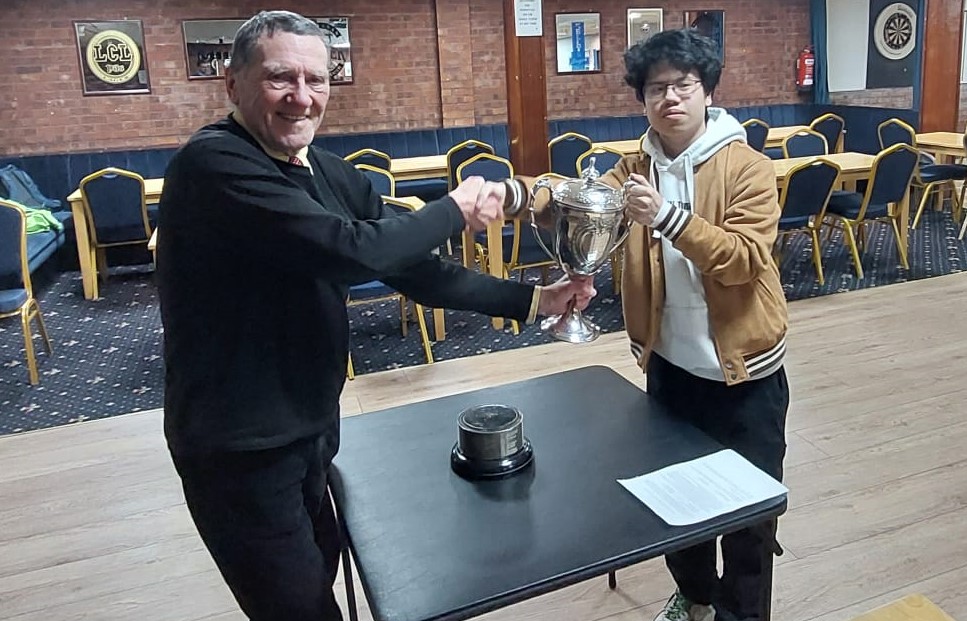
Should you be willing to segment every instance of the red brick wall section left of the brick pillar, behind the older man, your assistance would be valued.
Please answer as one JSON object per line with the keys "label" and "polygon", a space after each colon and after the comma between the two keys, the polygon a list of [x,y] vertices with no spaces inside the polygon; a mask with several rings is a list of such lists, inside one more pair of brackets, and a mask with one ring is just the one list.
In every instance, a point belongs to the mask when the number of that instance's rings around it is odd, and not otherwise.
{"label": "red brick wall section left of the brick pillar, behind the older man", "polygon": [[[187,79],[182,20],[244,19],[264,4],[0,1],[0,155],[179,144],[229,110],[224,80]],[[324,131],[440,126],[433,0],[290,0],[286,7],[351,17],[355,82],[333,88]],[[151,93],[83,96],[72,20],[125,17],[143,22]]]}

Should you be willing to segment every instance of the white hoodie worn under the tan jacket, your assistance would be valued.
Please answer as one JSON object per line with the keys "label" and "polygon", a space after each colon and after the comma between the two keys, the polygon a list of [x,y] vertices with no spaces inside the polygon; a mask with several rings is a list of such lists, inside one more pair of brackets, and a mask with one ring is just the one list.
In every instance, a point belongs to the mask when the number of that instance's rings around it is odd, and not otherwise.
{"label": "white hoodie worn under the tan jacket", "polygon": [[[745,142],[745,128],[722,108],[708,108],[705,133],[674,160],[668,159],[651,129],[642,145],[651,156],[649,181],[664,203],[655,218],[654,235],[675,237],[695,204],[694,168],[734,141]],[[655,352],[675,366],[706,379],[725,381],[708,319],[702,274],[664,235],[665,307]],[[647,312],[644,309],[643,312]]]}

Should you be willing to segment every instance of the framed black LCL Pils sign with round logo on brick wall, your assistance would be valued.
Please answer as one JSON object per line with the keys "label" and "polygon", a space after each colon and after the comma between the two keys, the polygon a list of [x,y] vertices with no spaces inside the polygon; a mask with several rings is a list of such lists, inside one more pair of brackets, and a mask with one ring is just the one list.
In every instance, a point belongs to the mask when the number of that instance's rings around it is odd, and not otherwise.
{"label": "framed black LCL Pils sign with round logo on brick wall", "polygon": [[85,95],[150,93],[140,20],[74,22]]}

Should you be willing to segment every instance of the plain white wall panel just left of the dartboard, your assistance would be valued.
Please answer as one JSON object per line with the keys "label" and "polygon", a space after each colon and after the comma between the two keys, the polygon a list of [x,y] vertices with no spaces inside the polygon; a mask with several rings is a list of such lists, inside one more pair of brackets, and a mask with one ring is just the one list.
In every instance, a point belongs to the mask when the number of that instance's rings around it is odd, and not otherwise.
{"label": "plain white wall panel just left of the dartboard", "polygon": [[866,88],[869,32],[869,0],[826,0],[829,92],[861,91]]}

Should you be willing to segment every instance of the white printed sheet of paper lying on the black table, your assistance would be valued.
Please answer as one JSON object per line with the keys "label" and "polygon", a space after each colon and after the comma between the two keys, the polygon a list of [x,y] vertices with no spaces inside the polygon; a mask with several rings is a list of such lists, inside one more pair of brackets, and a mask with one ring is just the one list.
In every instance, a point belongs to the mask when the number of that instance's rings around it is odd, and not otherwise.
{"label": "white printed sheet of paper lying on the black table", "polygon": [[704,522],[789,492],[731,449],[618,483],[672,526]]}

